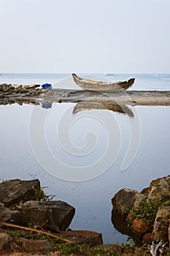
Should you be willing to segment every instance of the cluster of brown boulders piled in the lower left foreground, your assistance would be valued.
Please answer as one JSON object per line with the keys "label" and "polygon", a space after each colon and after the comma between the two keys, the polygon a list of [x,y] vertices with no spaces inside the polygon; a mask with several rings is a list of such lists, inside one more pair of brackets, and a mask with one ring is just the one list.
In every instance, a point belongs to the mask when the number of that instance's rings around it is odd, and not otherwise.
{"label": "cluster of brown boulders piled in the lower left foreground", "polygon": [[[88,230],[67,230],[75,214],[75,208],[61,200],[49,200],[38,179],[4,181],[0,184],[0,254],[1,252],[52,252],[55,249],[47,239],[18,238],[13,241],[5,230],[10,225],[31,227],[59,233],[62,238],[77,244],[98,246],[103,244],[101,233]],[[25,229],[26,230],[26,229]],[[37,230],[37,231],[38,231]],[[38,232],[37,232],[38,233]]]}

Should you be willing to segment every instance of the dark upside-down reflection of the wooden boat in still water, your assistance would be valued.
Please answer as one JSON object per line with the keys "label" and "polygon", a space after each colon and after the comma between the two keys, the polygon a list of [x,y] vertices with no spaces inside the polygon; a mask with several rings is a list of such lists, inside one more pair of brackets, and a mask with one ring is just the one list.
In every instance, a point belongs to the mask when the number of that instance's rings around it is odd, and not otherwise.
{"label": "dark upside-down reflection of the wooden boat in still water", "polygon": [[134,117],[133,111],[126,105],[118,105],[116,103],[98,103],[98,102],[80,102],[75,105],[73,113],[78,113],[82,110],[112,110],[117,113],[124,113],[128,116]]}

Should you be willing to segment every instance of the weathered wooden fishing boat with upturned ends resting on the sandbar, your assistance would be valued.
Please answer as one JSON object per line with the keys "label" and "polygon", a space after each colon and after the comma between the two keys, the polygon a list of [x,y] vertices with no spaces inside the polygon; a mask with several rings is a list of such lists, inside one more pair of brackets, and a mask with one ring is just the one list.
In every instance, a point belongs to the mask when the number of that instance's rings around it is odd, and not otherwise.
{"label": "weathered wooden fishing boat with upturned ends resting on the sandbar", "polygon": [[88,80],[84,78],[78,77],[76,74],[72,74],[74,82],[80,88],[88,91],[107,91],[107,92],[115,92],[115,91],[125,91],[129,87],[134,84],[135,78],[131,78],[126,81],[119,81],[113,83],[107,83],[103,81],[95,81],[95,80]]}

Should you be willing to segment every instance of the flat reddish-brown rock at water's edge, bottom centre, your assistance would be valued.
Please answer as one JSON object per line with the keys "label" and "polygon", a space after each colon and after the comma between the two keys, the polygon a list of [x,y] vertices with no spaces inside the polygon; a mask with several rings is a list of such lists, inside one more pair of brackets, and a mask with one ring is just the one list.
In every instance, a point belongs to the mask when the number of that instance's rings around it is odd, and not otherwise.
{"label": "flat reddish-brown rock at water's edge, bottom centre", "polygon": [[68,230],[62,231],[63,238],[75,241],[77,244],[86,244],[88,246],[97,246],[103,244],[101,233],[88,230]]}

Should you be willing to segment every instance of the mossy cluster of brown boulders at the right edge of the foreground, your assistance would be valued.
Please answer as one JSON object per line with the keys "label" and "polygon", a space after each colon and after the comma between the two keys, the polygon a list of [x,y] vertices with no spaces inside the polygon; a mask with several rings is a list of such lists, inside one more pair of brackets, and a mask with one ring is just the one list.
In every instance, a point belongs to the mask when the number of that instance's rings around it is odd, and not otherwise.
{"label": "mossy cluster of brown boulders at the right edge of the foreground", "polygon": [[138,241],[170,244],[170,176],[153,180],[142,192],[121,189],[112,206],[112,223],[120,232]]}

